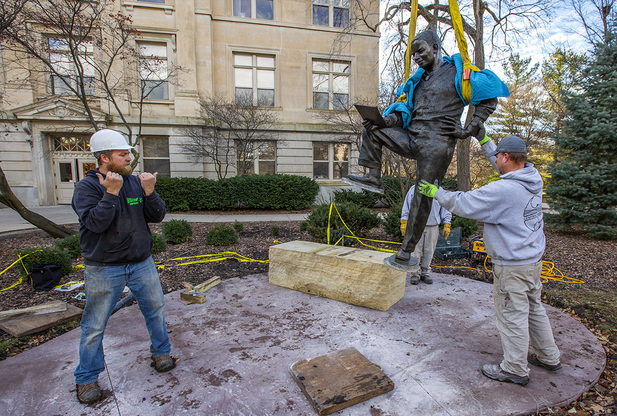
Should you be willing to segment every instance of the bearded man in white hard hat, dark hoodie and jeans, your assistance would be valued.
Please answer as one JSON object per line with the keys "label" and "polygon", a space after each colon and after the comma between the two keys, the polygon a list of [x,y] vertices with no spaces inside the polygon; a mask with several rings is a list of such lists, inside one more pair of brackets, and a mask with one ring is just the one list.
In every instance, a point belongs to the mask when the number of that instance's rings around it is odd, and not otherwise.
{"label": "bearded man in white hard hat, dark hoodie and jeans", "polygon": [[90,169],[73,193],[71,205],[79,216],[86,280],[80,363],[75,370],[77,398],[82,403],[102,397],[97,378],[105,368],[103,332],[125,285],[146,320],[154,368],[165,372],[176,364],[170,356],[165,300],[150,255],[152,234],[148,227],[148,222],[161,222],[167,211],[154,190],[157,174],[131,174],[130,149],[133,146],[117,131],[94,133],[90,150],[99,167]]}

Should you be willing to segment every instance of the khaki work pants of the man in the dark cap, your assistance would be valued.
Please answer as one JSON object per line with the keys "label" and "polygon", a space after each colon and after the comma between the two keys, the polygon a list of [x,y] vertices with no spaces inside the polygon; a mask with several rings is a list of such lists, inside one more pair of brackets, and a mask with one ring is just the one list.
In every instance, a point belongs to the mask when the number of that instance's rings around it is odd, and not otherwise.
{"label": "khaki work pants of the man in the dark cap", "polygon": [[542,261],[523,266],[493,265],[493,298],[497,330],[503,346],[501,369],[521,377],[529,375],[529,341],[540,361],[555,365],[559,349],[542,303]]}

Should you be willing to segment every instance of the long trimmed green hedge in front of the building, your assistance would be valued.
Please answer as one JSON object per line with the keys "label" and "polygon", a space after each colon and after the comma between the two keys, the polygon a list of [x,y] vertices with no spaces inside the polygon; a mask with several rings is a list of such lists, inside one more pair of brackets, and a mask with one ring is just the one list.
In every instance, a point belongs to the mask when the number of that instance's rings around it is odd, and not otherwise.
{"label": "long trimmed green hedge in front of the building", "polygon": [[168,211],[233,210],[238,206],[299,210],[310,206],[319,185],[310,177],[273,174],[206,177],[159,177],[156,191]]}

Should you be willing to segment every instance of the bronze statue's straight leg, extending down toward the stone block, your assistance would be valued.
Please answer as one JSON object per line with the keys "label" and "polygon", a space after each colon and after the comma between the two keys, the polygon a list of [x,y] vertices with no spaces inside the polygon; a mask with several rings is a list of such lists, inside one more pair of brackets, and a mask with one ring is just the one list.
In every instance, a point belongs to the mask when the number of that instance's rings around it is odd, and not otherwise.
{"label": "bronze statue's straight leg, extending down toward the stone block", "polygon": [[418,169],[414,185],[416,188],[409,207],[407,231],[405,231],[403,245],[397,253],[397,259],[401,260],[408,259],[410,253],[415,250],[416,244],[420,241],[424,232],[424,227],[426,227],[426,221],[431,214],[433,198],[420,194],[418,184],[420,184],[420,181],[427,181],[439,186],[444,179],[450,161],[452,161],[456,147],[455,139],[449,136],[419,137],[415,140],[417,141],[416,152],[418,152],[416,159]]}

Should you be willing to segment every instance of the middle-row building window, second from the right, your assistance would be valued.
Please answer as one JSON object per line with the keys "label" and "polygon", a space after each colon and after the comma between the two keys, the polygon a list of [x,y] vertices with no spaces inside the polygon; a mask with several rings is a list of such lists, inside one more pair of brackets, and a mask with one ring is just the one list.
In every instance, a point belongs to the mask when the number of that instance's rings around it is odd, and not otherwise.
{"label": "middle-row building window, second from the right", "polygon": [[233,55],[236,104],[274,107],[275,61],[272,55]]}

